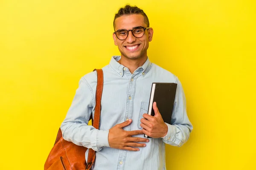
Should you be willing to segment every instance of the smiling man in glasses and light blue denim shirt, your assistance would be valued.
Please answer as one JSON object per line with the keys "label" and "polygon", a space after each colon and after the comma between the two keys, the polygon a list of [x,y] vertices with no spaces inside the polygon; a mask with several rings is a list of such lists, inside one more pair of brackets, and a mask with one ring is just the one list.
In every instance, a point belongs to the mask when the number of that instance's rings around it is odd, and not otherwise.
{"label": "smiling man in glasses and light blue denim shirt", "polygon": [[[61,124],[63,138],[97,151],[93,170],[166,170],[165,144],[183,145],[192,130],[182,86],[175,75],[149,61],[147,49],[153,29],[143,10],[128,5],[120,8],[113,26],[113,40],[121,56],[113,56],[110,64],[102,68],[99,130],[88,125],[95,109],[94,71],[79,82]],[[163,122],[156,103],[155,116],[146,114],[152,82],[177,83],[172,125]],[[152,138],[147,139],[144,134]]]}

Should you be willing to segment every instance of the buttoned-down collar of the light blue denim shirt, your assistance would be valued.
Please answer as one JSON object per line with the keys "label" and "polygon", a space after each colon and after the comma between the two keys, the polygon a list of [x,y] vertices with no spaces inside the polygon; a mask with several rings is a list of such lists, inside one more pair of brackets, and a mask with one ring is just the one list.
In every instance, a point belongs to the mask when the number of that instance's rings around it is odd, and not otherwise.
{"label": "buttoned-down collar of the light blue denim shirt", "polygon": [[[119,74],[121,77],[124,75],[124,68],[125,66],[119,64],[119,60],[121,59],[121,56],[113,56],[111,57],[110,60],[110,66],[113,68],[114,71],[116,71],[117,74]],[[145,76],[145,74],[149,71],[149,69],[151,68],[151,62],[149,61],[148,57],[147,60],[145,61],[145,63],[140,66],[139,68],[137,68],[137,70],[143,70],[142,74],[143,77]]]}

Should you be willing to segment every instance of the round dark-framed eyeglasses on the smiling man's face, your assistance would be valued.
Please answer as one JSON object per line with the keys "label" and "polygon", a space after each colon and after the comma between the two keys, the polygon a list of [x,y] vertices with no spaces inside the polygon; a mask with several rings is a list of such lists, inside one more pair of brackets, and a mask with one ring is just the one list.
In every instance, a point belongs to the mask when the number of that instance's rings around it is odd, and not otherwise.
{"label": "round dark-framed eyeglasses on the smiling man's face", "polygon": [[125,40],[128,37],[129,31],[131,31],[131,34],[133,34],[134,37],[140,38],[140,37],[143,37],[143,35],[145,34],[145,30],[148,29],[148,28],[138,26],[138,27],[135,27],[135,28],[130,29],[130,30],[119,29],[116,32],[114,32],[114,34],[116,34],[116,37],[119,40]]}

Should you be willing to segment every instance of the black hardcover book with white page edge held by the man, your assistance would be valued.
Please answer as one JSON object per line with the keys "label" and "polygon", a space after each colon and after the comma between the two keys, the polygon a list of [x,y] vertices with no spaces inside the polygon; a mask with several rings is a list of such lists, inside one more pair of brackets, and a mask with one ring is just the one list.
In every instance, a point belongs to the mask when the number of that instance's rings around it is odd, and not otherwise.
{"label": "black hardcover book with white page edge held by the man", "polygon": [[[170,124],[176,88],[176,83],[152,83],[148,114],[154,116],[153,103],[157,102],[157,108],[163,118],[163,121]],[[150,138],[147,135],[145,135],[145,137]]]}

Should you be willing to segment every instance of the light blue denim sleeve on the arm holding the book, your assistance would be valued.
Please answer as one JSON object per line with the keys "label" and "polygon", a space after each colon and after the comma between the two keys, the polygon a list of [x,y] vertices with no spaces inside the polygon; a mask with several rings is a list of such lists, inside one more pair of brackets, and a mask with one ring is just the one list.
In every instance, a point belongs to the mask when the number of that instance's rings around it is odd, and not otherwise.
{"label": "light blue denim sleeve on the arm holding the book", "polygon": [[189,139],[193,129],[186,112],[186,98],[180,81],[176,78],[177,90],[172,111],[171,125],[168,126],[167,135],[163,137],[163,142],[173,146],[182,146]]}

